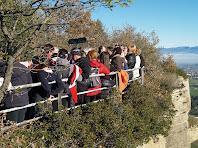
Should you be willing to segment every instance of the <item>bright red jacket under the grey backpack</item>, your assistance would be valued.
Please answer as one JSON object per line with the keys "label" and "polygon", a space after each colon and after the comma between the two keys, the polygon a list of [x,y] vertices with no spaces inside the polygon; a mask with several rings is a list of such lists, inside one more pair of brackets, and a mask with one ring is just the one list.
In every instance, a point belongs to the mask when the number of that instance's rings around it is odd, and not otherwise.
{"label": "bright red jacket under the grey backpack", "polygon": [[[91,60],[90,61],[90,66],[91,67],[97,67],[97,68],[99,68],[100,74],[101,73],[104,73],[105,75],[108,75],[110,73],[110,70],[106,66],[104,66],[104,64],[102,64],[100,62],[97,62],[96,60]],[[102,84],[100,82],[100,85],[99,86],[94,87],[94,88],[88,88],[88,91],[89,90],[99,89],[99,88],[101,88],[101,86],[102,86]],[[95,95],[98,95],[99,93],[101,93],[101,90],[90,92],[90,93],[87,93],[85,95],[86,96],[95,96]]]}

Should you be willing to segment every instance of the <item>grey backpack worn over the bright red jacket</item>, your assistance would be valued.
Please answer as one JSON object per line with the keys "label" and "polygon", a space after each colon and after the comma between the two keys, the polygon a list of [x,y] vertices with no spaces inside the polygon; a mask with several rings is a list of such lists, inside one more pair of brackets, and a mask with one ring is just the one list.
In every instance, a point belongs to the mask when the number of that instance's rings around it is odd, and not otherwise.
{"label": "grey backpack worn over the bright red jacket", "polygon": [[[97,67],[91,67],[91,70],[89,72],[89,76],[92,75],[97,75],[100,73],[100,69]],[[91,80],[91,84],[90,87],[94,88],[94,87],[98,87],[100,85],[100,77],[89,77],[89,79]]]}

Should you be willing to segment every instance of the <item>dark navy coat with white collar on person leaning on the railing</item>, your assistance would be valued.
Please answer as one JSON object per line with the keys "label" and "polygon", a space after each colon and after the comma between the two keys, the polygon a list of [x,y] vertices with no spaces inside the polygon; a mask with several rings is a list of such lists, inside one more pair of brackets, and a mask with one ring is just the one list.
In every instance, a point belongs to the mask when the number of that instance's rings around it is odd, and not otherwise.
{"label": "dark navy coat with white collar on person leaning on the railing", "polygon": [[[50,70],[41,70],[38,74],[38,78],[41,81],[41,85],[44,88],[45,98],[49,98],[50,95],[57,95],[64,89],[64,84],[60,77]],[[48,84],[48,82],[56,81],[55,84]]]}

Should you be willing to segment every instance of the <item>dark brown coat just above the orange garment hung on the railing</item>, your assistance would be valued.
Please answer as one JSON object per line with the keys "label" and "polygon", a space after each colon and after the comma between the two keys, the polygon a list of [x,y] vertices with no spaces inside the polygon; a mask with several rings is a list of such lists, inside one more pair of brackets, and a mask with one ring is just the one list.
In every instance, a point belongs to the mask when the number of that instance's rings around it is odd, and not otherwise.
{"label": "dark brown coat just above the orange garment hung on the railing", "polygon": [[110,71],[121,71],[123,68],[123,60],[120,54],[114,55],[110,65]]}

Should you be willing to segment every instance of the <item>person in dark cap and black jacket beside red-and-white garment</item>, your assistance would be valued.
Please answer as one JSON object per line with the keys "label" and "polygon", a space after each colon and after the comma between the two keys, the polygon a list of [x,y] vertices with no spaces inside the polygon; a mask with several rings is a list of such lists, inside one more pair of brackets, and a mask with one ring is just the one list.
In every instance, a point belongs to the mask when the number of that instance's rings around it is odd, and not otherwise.
{"label": "person in dark cap and black jacket beside red-and-white garment", "polygon": [[[89,78],[89,72],[91,70],[90,60],[89,58],[82,57],[80,49],[72,49],[71,51],[72,59],[75,61],[75,64],[78,65],[82,69],[82,82],[77,82],[77,91],[82,92],[88,89],[89,84],[87,84],[87,80]],[[79,95],[78,96],[78,104],[84,104],[90,102],[89,96]]]}

